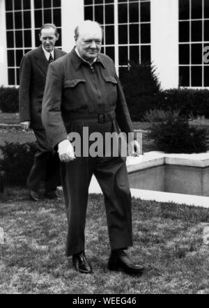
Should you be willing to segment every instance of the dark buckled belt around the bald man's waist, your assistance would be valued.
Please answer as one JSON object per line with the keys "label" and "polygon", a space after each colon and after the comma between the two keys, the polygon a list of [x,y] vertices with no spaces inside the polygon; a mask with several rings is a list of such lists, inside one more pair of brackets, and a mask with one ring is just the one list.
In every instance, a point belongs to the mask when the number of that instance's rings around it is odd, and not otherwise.
{"label": "dark buckled belt around the bald man's waist", "polygon": [[66,118],[68,123],[106,123],[116,118],[115,111],[104,112],[104,114],[74,114]]}

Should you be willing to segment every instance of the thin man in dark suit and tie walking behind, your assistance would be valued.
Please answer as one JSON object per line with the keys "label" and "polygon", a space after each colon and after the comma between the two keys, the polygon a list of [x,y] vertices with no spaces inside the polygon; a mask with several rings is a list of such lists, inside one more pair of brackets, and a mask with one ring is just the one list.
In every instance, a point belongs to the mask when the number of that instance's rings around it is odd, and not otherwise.
{"label": "thin man in dark suit and tie walking behind", "polygon": [[42,97],[45,90],[47,69],[50,63],[66,54],[54,48],[59,33],[54,24],[44,24],[39,34],[40,47],[28,52],[20,65],[20,123],[24,130],[33,129],[37,151],[27,179],[29,194],[38,201],[41,180],[45,180],[45,197],[56,199],[59,183],[59,157],[50,146],[42,126]]}

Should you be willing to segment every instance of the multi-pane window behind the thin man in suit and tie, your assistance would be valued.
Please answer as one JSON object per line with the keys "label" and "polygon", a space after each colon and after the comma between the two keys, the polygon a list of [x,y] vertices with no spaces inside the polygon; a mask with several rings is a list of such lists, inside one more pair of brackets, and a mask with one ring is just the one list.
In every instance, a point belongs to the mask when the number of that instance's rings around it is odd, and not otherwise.
{"label": "multi-pane window behind the thin man in suit and tie", "polygon": [[5,3],[8,84],[17,86],[22,56],[40,45],[38,34],[42,24],[56,24],[60,33],[56,46],[61,47],[61,0],[5,0]]}

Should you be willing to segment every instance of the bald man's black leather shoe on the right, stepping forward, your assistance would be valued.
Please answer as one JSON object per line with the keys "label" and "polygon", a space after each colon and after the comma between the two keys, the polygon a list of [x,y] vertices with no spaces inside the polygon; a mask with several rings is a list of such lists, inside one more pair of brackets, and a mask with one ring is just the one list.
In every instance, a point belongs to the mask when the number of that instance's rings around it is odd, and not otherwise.
{"label": "bald man's black leather shoe on the right, stepping forward", "polygon": [[141,265],[134,264],[124,250],[111,252],[107,268],[109,270],[121,270],[127,272],[127,274],[142,275],[144,272],[144,268]]}

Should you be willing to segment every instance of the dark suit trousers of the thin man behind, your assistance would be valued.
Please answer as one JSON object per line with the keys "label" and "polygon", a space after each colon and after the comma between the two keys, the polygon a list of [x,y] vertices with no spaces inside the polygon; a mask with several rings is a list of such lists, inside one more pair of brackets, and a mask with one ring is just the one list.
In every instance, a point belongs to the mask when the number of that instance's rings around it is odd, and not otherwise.
{"label": "dark suit trousers of the thin man behind", "polygon": [[37,141],[37,151],[27,179],[27,186],[30,190],[37,191],[41,181],[44,180],[46,192],[54,192],[59,184],[59,156],[49,145],[45,130],[34,130],[34,134]]}

